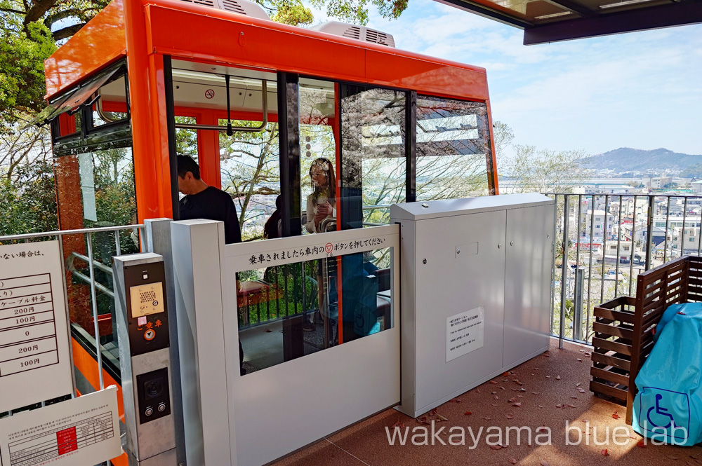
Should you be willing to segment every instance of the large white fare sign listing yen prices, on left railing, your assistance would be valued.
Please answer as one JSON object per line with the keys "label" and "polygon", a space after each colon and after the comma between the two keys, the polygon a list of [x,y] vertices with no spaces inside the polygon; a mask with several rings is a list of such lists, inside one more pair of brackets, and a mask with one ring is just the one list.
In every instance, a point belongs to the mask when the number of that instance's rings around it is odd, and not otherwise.
{"label": "large white fare sign listing yen prices, on left railing", "polygon": [[0,412],[73,393],[58,241],[0,246]]}

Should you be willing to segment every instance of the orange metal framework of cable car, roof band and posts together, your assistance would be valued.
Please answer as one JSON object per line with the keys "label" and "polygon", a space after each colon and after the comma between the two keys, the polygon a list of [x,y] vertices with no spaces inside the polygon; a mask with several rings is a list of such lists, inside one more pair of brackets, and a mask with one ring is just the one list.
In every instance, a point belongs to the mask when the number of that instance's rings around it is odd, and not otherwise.
{"label": "orange metal framework of cable car, roof band and posts together", "polygon": [[[173,217],[164,55],[486,102],[491,140],[493,137],[482,68],[185,1],[114,0],[46,60],[46,98],[51,100],[126,57],[140,222]],[[176,108],[175,113],[203,124],[216,124],[224,116],[204,109]],[[236,118],[260,119],[260,114]],[[277,121],[277,116],[271,114],[269,120]],[[218,134],[199,131],[198,150],[203,179],[220,186]],[[490,185],[497,194],[494,147],[488,165]],[[97,370],[93,363],[85,357],[75,360],[84,374]]]}

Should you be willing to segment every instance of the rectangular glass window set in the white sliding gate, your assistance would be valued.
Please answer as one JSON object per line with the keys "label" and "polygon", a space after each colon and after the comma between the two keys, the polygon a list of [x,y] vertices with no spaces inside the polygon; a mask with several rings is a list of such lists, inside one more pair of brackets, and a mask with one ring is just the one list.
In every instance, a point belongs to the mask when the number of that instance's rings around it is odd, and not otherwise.
{"label": "rectangular glass window set in the white sliding gate", "polygon": [[334,267],[337,258],[237,274],[239,340],[247,373],[394,326],[392,248],[343,256],[346,259],[359,267],[345,269],[342,277]]}

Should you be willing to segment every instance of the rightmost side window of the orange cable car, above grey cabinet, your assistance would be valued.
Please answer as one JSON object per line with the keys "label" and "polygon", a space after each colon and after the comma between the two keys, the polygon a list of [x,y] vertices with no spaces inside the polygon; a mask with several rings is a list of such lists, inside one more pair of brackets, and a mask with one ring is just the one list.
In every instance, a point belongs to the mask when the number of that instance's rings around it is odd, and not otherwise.
{"label": "rightmost side window of the orange cable car, above grey cabinet", "polygon": [[488,194],[490,134],[484,102],[417,97],[417,200]]}

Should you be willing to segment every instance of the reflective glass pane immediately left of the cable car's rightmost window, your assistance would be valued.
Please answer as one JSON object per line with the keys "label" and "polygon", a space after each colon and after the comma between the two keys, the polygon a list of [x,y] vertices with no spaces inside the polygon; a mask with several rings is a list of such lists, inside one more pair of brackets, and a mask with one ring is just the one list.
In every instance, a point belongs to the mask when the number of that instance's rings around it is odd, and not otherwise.
{"label": "reflective glass pane immediately left of the cable car's rightmost window", "polygon": [[405,199],[405,102],[402,91],[343,85],[341,202],[349,203],[342,219],[346,228],[387,223],[388,209],[373,206]]}

